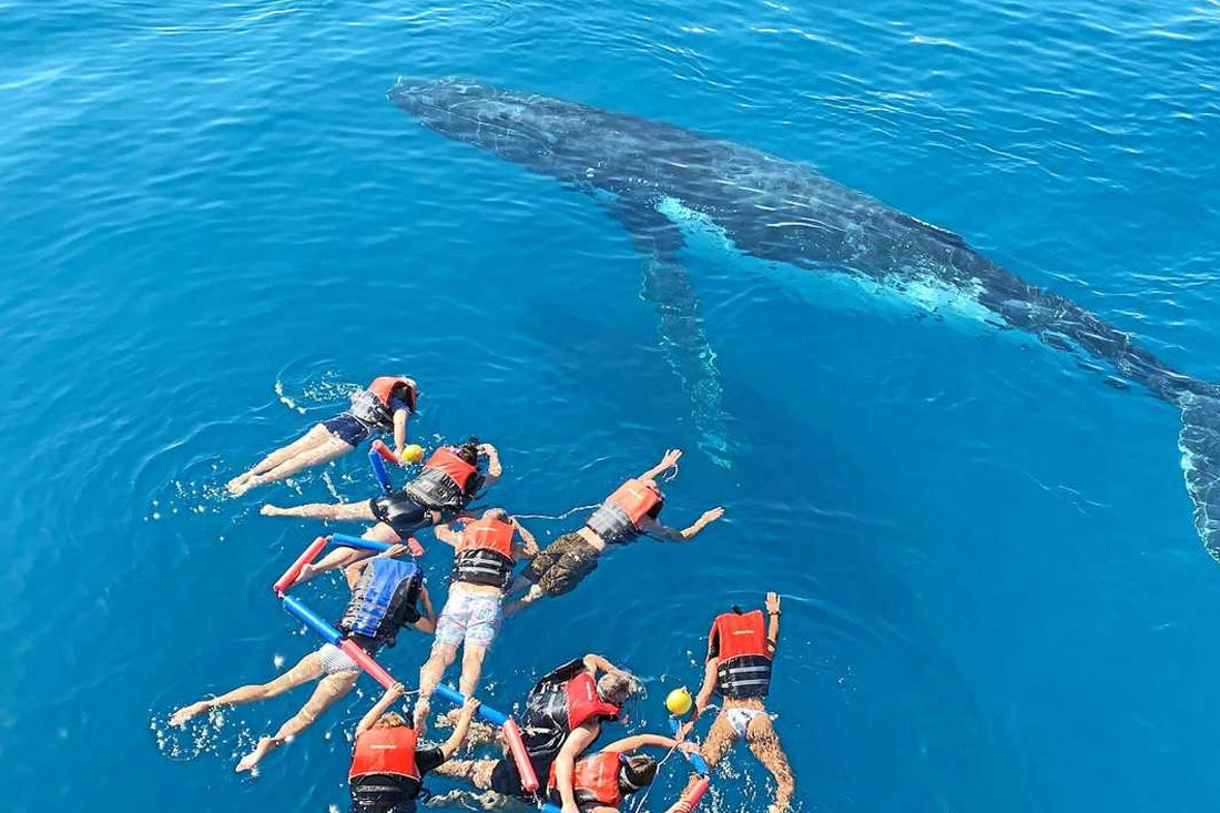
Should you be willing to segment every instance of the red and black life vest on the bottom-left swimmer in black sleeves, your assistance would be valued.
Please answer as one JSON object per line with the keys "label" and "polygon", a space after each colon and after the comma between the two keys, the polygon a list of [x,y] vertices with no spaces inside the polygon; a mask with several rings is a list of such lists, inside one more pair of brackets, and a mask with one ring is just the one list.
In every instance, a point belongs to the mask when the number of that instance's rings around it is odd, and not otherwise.
{"label": "red and black life vest on the bottom-left swimmer in black sleeves", "polygon": [[403,809],[420,795],[417,742],[418,732],[406,725],[376,726],[356,737],[348,771],[354,811]]}

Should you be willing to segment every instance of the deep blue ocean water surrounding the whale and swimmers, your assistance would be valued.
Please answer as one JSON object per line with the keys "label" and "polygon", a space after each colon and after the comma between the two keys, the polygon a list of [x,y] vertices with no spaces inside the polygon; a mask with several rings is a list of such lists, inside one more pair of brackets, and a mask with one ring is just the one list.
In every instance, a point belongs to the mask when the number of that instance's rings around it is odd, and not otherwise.
{"label": "deep blue ocean water surrounding the whale and swimmers", "polygon": [[[1214,809],[1220,573],[1174,409],[1017,336],[692,250],[719,466],[630,236],[384,92],[460,74],[806,161],[1220,380],[1218,24],[1215,0],[0,0],[0,807],[343,807],[371,682],[255,780],[237,756],[301,691],[165,720],[315,646],[267,585],[318,526],[257,505],[375,490],[362,454],[223,482],[405,371],[412,433],[495,442],[512,510],[594,502],[669,446],[667,516],[727,509],[511,620],[500,706],[595,651],[648,679],[636,724],[658,729],[711,618],[776,590],[803,809]],[[412,682],[426,648],[386,663]],[[712,808],[762,809],[760,769],[728,764]]]}

